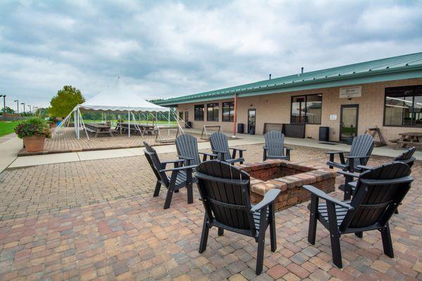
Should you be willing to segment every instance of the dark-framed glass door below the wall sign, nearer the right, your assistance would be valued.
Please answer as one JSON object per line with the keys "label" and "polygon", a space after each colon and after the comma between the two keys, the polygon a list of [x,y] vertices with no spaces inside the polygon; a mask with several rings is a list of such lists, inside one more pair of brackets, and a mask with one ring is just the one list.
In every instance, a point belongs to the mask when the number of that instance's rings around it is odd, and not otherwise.
{"label": "dark-framed glass door below the wall sign, nearer the right", "polygon": [[357,121],[359,105],[341,105],[340,111],[340,141],[357,136]]}

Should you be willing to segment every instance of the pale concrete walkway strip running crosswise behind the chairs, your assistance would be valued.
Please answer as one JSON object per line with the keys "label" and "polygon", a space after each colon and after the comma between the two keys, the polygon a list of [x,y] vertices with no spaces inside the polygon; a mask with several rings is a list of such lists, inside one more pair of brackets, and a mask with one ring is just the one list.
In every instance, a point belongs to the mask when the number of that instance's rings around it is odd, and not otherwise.
{"label": "pale concrete walkway strip running crosswise behind the chairs", "polygon": [[[188,133],[188,131],[186,131]],[[262,135],[248,135],[248,134],[238,134],[238,139],[229,141],[230,146],[236,145],[254,145],[264,143],[264,136]],[[0,144],[1,145],[1,144]],[[341,151],[349,151],[350,145],[345,145],[343,143],[333,143],[333,144],[326,144],[320,143],[319,141],[315,141],[312,139],[306,138],[286,138],[286,145],[300,145],[310,148],[321,148],[324,150],[341,150]],[[18,145],[19,148],[22,148],[22,143]],[[210,143],[198,143],[198,148],[200,150],[210,149]],[[155,150],[158,153],[169,153],[169,152],[176,152],[176,146],[172,145],[159,145],[155,146]],[[387,157],[396,157],[402,150],[393,150],[391,147],[383,146],[381,148],[374,148],[373,155],[378,156],[387,156]],[[294,153],[294,150],[293,152]],[[11,155],[11,152],[9,152]],[[16,151],[14,152],[16,155]],[[14,156],[13,159],[10,161],[14,162],[8,166],[8,168],[18,168],[23,166],[37,166],[43,164],[55,164],[55,163],[65,163],[65,162],[76,162],[76,161],[86,161],[86,160],[94,160],[94,159],[106,159],[106,158],[117,158],[117,157],[132,157],[143,155],[143,148],[122,148],[116,150],[96,150],[96,151],[84,151],[84,152],[69,152],[69,153],[57,153],[51,155],[34,155],[34,156],[24,156],[24,157],[16,157]],[[422,152],[416,151],[415,155],[416,159],[422,159]],[[3,170],[1,170],[3,171]]]}

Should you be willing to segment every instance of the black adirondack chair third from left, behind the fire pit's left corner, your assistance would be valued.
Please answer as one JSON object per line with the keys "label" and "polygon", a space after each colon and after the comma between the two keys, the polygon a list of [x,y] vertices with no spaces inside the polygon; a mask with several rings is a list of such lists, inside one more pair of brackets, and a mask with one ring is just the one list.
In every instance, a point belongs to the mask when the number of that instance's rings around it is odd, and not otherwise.
{"label": "black adirondack chair third from left, behind the fire pit's left corner", "polygon": [[[224,133],[212,133],[210,143],[212,153],[218,155],[218,159],[220,161],[230,164],[234,164],[236,162],[243,164],[243,161],[245,161],[243,158],[243,151],[246,150],[242,148],[229,148],[229,141]],[[230,150],[233,150],[232,154],[230,154]],[[238,158],[236,158],[236,152],[239,152]]]}

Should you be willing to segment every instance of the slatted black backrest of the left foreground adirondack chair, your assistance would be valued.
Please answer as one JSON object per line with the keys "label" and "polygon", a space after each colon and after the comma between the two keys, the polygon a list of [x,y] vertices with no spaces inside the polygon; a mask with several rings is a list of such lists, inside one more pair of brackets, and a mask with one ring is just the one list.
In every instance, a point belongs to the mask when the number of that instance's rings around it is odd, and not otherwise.
{"label": "slatted black backrest of the left foreground adirondack chair", "polygon": [[[197,167],[196,178],[207,216],[210,220],[231,228],[250,230],[255,235],[255,224],[250,214],[249,175],[218,160],[203,162]],[[227,179],[224,183],[222,179]],[[232,180],[243,180],[236,181]]]}

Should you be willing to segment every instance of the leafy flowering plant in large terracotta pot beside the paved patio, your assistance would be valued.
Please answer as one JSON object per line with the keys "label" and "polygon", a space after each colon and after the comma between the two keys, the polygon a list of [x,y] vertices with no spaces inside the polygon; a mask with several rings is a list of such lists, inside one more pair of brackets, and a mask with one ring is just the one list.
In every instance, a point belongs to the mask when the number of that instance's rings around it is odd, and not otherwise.
{"label": "leafy flowering plant in large terracotta pot beside the paved patio", "polygon": [[51,138],[49,125],[44,119],[32,117],[15,127],[15,133],[23,139],[27,152],[39,152],[44,150],[44,141]]}

